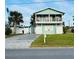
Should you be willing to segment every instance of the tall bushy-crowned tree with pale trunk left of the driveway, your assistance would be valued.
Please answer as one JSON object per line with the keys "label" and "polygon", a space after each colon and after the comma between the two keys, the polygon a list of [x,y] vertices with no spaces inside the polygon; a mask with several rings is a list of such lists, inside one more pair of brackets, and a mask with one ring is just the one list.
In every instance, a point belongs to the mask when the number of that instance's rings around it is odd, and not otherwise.
{"label": "tall bushy-crowned tree with pale trunk left of the driveway", "polygon": [[13,34],[16,34],[16,26],[20,23],[23,23],[23,16],[18,11],[10,11],[10,15],[8,17],[9,25],[13,23]]}

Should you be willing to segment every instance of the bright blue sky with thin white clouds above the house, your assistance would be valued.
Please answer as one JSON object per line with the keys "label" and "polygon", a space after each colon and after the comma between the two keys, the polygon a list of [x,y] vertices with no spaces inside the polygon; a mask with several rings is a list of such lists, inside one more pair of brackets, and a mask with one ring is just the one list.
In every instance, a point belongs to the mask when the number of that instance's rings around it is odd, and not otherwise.
{"label": "bright blue sky with thin white clouds above the house", "polygon": [[7,14],[6,8],[10,11],[18,11],[22,13],[24,20],[23,25],[26,26],[30,25],[30,17],[34,12],[46,8],[64,12],[63,21],[65,22],[65,25],[73,25],[72,16],[74,16],[74,0],[5,0],[5,21],[7,22],[7,17],[9,15]]}

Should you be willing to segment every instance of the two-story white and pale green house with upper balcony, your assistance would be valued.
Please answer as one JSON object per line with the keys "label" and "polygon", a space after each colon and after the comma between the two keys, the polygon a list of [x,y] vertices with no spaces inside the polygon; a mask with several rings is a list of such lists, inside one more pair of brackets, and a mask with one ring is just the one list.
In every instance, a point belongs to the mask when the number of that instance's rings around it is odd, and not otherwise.
{"label": "two-story white and pale green house with upper balcony", "polygon": [[31,33],[63,34],[63,15],[63,12],[51,8],[35,12],[31,17]]}

